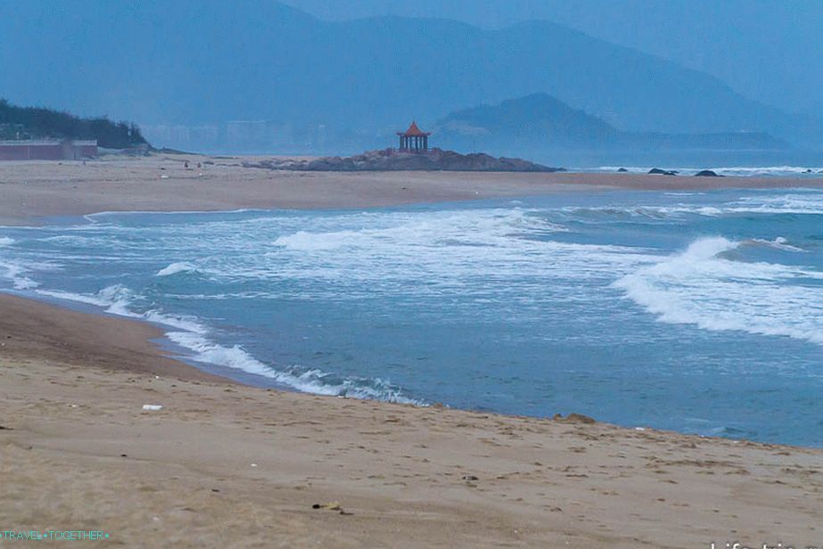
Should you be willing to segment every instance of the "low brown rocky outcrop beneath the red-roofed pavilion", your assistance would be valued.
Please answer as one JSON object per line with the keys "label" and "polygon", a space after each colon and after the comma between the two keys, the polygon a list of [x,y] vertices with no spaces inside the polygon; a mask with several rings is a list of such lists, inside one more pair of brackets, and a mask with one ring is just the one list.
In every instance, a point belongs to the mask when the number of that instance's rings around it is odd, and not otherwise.
{"label": "low brown rocky outcrop beneath the red-roofed pavilion", "polygon": [[347,157],[329,156],[313,160],[271,159],[243,162],[243,166],[296,171],[565,171],[564,168],[550,168],[528,160],[495,158],[481,152],[460,154],[440,149],[432,149],[428,152],[398,152],[394,149],[385,149]]}

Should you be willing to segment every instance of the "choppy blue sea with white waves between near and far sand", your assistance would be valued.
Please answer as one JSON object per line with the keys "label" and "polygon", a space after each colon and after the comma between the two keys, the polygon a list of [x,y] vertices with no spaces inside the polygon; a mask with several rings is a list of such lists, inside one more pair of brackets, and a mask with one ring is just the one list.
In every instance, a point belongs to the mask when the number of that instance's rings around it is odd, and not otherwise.
{"label": "choppy blue sea with white waves between near and far sand", "polygon": [[0,227],[0,290],[276,387],[823,447],[823,192]]}

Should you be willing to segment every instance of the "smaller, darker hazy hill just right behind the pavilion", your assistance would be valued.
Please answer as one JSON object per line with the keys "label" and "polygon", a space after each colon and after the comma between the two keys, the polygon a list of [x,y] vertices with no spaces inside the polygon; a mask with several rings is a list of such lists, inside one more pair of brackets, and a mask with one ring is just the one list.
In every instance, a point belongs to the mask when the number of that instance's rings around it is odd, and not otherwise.
{"label": "smaller, darker hazy hill just right behind the pavilion", "polygon": [[497,154],[592,150],[776,151],[788,144],[765,132],[666,134],[621,132],[603,119],[547,94],[450,113],[433,127],[433,141],[461,151]]}

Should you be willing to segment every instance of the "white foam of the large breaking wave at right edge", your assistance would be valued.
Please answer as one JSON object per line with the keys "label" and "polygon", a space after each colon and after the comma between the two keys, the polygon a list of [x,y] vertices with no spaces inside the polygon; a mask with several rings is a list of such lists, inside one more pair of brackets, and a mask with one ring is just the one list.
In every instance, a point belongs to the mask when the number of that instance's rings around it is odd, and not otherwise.
{"label": "white foam of the large breaking wave at right edge", "polygon": [[613,286],[664,323],[823,344],[823,293],[819,285],[807,283],[823,280],[823,274],[724,258],[740,244],[721,237],[699,239]]}

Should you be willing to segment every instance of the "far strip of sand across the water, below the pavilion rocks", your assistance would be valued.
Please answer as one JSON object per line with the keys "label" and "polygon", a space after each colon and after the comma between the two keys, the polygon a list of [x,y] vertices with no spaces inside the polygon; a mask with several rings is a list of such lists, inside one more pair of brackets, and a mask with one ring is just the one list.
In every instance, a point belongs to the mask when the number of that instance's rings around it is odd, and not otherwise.
{"label": "far strip of sand across the water, below the pavilion rocks", "polygon": [[[251,160],[253,157],[249,157]],[[185,168],[185,161],[190,167]],[[201,168],[196,168],[197,163]],[[584,172],[287,172],[238,159],[155,154],[0,165],[0,225],[111,211],[363,209],[608,191],[823,187],[821,177],[696,177]]]}

